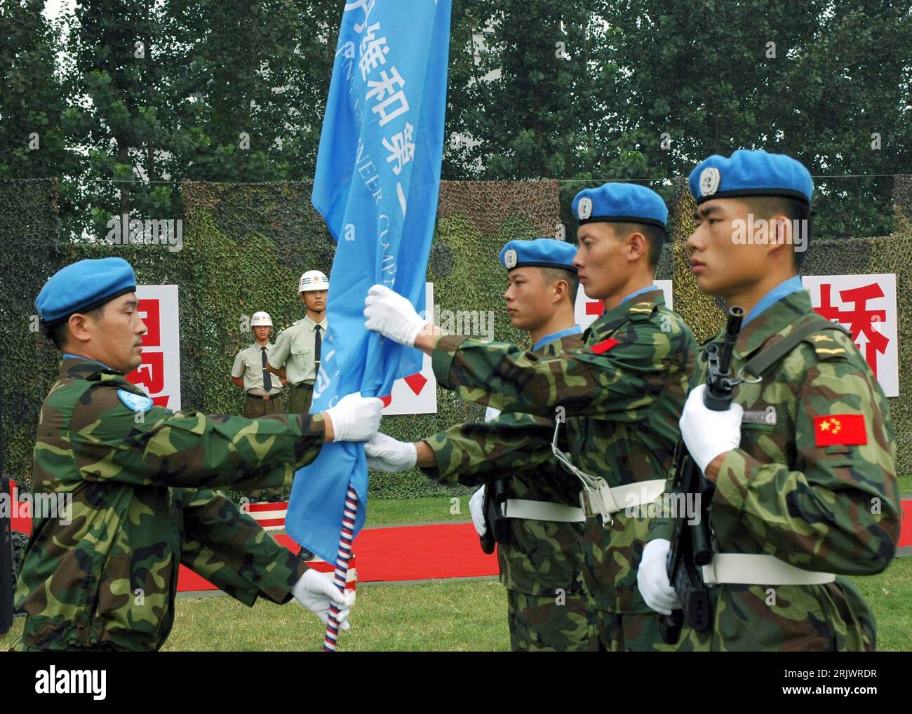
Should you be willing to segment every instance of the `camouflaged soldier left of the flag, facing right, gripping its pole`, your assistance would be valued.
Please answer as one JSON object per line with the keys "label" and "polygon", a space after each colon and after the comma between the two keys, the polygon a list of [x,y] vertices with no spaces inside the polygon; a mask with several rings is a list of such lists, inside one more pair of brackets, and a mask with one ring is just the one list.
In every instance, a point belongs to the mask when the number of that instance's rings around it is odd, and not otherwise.
{"label": "camouflaged soldier left of the flag, facing right, gripping its pole", "polygon": [[32,490],[71,502],[34,519],[14,648],[159,649],[179,564],[246,605],[294,596],[326,622],[330,603],[350,598],[212,488],[279,486],[325,440],[368,439],[382,403],[349,395],[345,409],[262,419],[154,407],[124,377],[146,329],[135,285],[120,258],[80,261],[36,300],[64,359],[38,421]]}

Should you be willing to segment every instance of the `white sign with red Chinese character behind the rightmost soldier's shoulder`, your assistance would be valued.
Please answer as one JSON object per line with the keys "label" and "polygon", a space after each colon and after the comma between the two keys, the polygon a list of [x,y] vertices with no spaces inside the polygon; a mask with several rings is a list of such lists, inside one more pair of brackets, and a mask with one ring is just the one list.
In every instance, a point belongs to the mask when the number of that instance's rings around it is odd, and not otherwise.
{"label": "white sign with red Chinese character behind the rightmost soldier's shoulder", "polygon": [[898,397],[896,274],[805,275],[802,283],[814,310],[852,333],[884,394]]}

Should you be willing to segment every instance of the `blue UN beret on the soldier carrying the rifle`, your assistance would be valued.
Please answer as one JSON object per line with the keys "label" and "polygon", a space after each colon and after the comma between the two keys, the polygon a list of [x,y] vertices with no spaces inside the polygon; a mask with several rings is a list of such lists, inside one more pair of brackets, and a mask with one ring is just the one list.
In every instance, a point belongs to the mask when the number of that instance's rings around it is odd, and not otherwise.
{"label": "blue UN beret on the soldier carrying the rifle", "polygon": [[728,159],[713,154],[700,161],[690,171],[688,188],[698,204],[736,196],[785,196],[810,204],[814,181],[791,156],[739,149]]}

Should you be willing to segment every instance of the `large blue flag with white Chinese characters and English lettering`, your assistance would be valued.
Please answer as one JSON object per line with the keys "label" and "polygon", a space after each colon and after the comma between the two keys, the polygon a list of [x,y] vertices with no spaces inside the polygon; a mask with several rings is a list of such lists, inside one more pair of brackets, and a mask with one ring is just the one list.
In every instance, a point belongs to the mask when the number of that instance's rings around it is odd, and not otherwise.
{"label": "large blue flag with white Chinese characters and English lettering", "polygon": [[[389,395],[418,372],[418,350],[380,344],[364,328],[370,285],[389,285],[424,310],[440,194],[451,0],[347,2],[316,160],[314,207],[336,239],[327,320],[311,411],[351,392]],[[361,444],[326,444],[298,471],[286,528],[335,563],[349,482],[364,524],[368,464]]]}

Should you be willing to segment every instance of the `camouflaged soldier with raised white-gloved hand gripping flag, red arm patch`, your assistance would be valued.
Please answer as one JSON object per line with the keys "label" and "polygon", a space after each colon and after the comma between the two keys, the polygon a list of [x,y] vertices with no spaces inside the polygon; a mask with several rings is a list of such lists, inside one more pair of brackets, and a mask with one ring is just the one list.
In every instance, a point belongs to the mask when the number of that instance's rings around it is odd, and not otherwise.
{"label": "camouflaged soldier with raised white-gloved hand gripping flag, red arm patch", "polygon": [[[655,502],[672,476],[696,343],[652,285],[668,217],[658,194],[607,183],[581,191],[573,208],[580,283],[606,307],[586,330],[585,347],[543,359],[512,345],[440,336],[424,329],[407,301],[378,285],[365,316],[368,328],[430,354],[440,386],[461,398],[540,417],[565,414],[570,461],[590,484],[585,575],[601,646],[648,650],[660,636],[657,617],[637,592],[649,527],[648,513],[637,506]],[[548,440],[520,443],[492,456],[490,468],[541,459],[548,450]]]}

